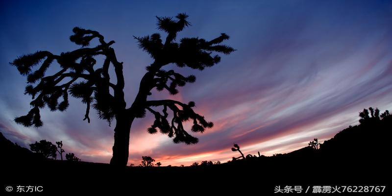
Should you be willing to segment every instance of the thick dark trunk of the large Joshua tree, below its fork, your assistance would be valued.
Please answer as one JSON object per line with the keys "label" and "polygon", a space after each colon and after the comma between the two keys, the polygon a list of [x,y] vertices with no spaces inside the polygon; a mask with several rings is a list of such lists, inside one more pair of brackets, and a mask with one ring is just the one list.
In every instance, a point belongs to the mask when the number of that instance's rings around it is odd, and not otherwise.
{"label": "thick dark trunk of the large Joshua tree, below its fork", "polygon": [[110,165],[125,167],[129,156],[129,133],[134,117],[126,115],[116,116],[116,127],[114,128],[113,157]]}

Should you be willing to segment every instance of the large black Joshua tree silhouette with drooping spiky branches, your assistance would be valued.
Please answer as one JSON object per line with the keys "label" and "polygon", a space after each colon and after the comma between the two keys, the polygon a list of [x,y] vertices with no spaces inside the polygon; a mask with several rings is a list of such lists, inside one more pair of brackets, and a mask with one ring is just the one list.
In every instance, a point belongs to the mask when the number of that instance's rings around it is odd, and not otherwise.
{"label": "large black Joshua tree silhouette with drooping spiky branches", "polygon": [[[48,106],[51,111],[65,111],[69,106],[68,97],[71,94],[86,104],[83,120],[90,123],[89,114],[92,106],[97,110],[98,117],[106,120],[109,126],[113,120],[116,121],[113,157],[110,160],[112,165],[127,165],[131,125],[135,118],[144,118],[146,110],[155,117],[154,123],[147,129],[148,133],[154,134],[159,131],[167,134],[170,138],[173,137],[176,144],[196,144],[198,139],[185,131],[183,123],[191,120],[193,132],[204,132],[205,128],[211,128],[213,123],[207,122],[192,109],[195,102],[183,103],[172,99],[147,100],[147,97],[154,88],[158,91],[166,89],[175,95],[178,93],[178,86],[195,82],[194,75],[183,76],[174,70],[165,70],[164,66],[175,64],[180,68],[203,70],[221,61],[221,57],[213,52],[230,54],[234,49],[221,45],[224,40],[229,39],[224,33],[210,41],[195,37],[182,38],[176,42],[177,33],[190,25],[187,21],[188,15],[184,13],[178,14],[175,19],[156,18],[158,29],[167,34],[166,39],[162,40],[158,33],[134,37],[139,43],[139,48],[153,58],[153,63],[147,66],[147,73],[142,77],[139,91],[130,107],[126,106],[123,92],[123,62],[118,61],[115,50],[111,48],[115,42],[106,42],[97,31],[75,27],[70,40],[81,46],[80,49],[62,52],[60,55],[49,51],[37,51],[20,56],[10,63],[16,66],[22,75],[27,76],[25,94],[33,99],[30,102],[32,109],[27,115],[15,118],[15,122],[24,126],[42,126],[40,110]],[[88,48],[93,39],[98,39],[98,46]],[[103,64],[98,66],[96,58],[102,57]],[[48,75],[49,72],[46,71],[54,61],[60,67],[56,73]],[[38,64],[41,66],[33,72],[32,68]],[[111,66],[114,67],[114,79],[109,75]],[[113,83],[114,81],[117,83]],[[163,108],[162,113],[154,110],[154,107]],[[167,120],[168,109],[172,110],[170,123]]]}

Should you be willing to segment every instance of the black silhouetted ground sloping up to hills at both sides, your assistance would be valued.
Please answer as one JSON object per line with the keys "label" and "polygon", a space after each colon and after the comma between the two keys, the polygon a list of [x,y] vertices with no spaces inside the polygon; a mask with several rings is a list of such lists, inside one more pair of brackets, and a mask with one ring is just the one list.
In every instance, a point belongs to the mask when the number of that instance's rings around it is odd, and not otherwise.
{"label": "black silhouetted ground sloping up to hills at both sides", "polygon": [[[274,194],[275,186],[387,186],[391,176],[392,116],[350,126],[320,145],[286,154],[197,167],[126,167],[46,160],[0,134],[1,185],[40,185],[45,192],[147,191]],[[230,150],[228,148],[228,150]],[[234,153],[234,152],[233,152]],[[126,179],[126,180],[123,180]],[[3,189],[4,191],[4,189]],[[358,194],[358,193],[357,193]],[[380,194],[380,193],[379,193]],[[287,195],[287,194],[283,194]],[[344,195],[347,195],[345,193]],[[349,194],[348,194],[349,195]],[[352,193],[355,195],[355,193]]]}

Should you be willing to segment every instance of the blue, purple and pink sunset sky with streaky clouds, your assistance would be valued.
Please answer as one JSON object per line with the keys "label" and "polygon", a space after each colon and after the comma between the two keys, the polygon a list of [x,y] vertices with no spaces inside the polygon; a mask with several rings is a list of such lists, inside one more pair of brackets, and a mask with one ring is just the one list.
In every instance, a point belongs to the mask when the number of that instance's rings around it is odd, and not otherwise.
{"label": "blue, purple and pink sunset sky with streaky clouds", "polygon": [[71,98],[64,113],[41,110],[42,127],[13,121],[29,111],[31,97],[24,95],[25,77],[9,62],[37,50],[78,49],[69,41],[74,26],[97,30],[106,41],[116,41],[112,47],[124,62],[129,106],[152,63],[132,36],[159,32],[155,16],[182,12],[192,26],[179,38],[211,40],[224,32],[230,36],[225,44],[237,50],[202,72],[177,69],[195,74],[196,82],[176,96],[153,91],[152,98],[195,101],[195,111],[215,126],[194,133],[199,143],[187,146],[148,134],[152,115],[136,119],[128,165],[138,165],[142,156],[163,166],[226,162],[239,156],[231,151],[233,143],[245,154],[287,153],[358,124],[363,108],[392,109],[392,1],[1,0],[0,132],[24,147],[42,139],[63,141],[66,153],[82,161],[108,163],[114,124],[93,114],[90,124],[82,121],[85,106],[78,99]]}

